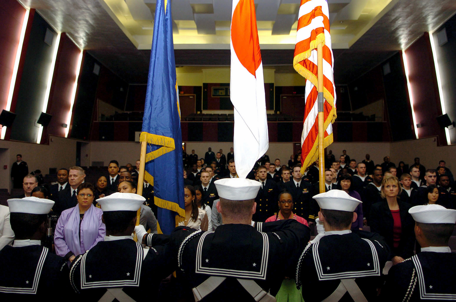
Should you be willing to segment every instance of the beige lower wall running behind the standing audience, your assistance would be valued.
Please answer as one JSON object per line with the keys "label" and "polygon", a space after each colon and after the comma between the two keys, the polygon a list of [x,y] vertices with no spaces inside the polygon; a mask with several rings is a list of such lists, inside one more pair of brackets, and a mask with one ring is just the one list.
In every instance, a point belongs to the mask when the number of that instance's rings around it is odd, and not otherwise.
{"label": "beige lower wall running behind the standing audience", "polygon": [[[49,145],[36,145],[18,141],[0,141],[0,188],[10,188],[11,164],[16,161],[16,154],[21,153],[23,160],[28,163],[29,171],[40,169],[43,174],[49,172],[49,168],[71,167],[76,162],[77,140],[65,139],[51,136]],[[204,157],[207,147],[212,147],[214,152],[223,149],[227,154],[231,142],[188,142],[186,143],[188,153],[192,149],[200,157]],[[420,140],[401,142],[379,142],[379,143],[342,143],[336,142],[327,148],[338,157],[342,150],[357,161],[364,159],[369,153],[371,159],[377,164],[383,162],[383,156],[389,155],[391,161],[398,164],[405,161],[412,164],[415,156],[420,157],[421,163],[426,168],[435,168],[439,160],[446,161],[446,166],[456,171],[456,146],[438,147],[436,138],[424,138]],[[280,158],[282,164],[286,164],[293,153],[293,143],[269,143],[269,150],[266,153],[271,160]],[[140,143],[138,142],[83,142],[81,148],[81,165],[90,166],[92,161],[104,161],[107,165],[110,160],[119,161],[120,165],[126,163],[134,164],[140,157]],[[7,169],[2,167],[7,165]]]}

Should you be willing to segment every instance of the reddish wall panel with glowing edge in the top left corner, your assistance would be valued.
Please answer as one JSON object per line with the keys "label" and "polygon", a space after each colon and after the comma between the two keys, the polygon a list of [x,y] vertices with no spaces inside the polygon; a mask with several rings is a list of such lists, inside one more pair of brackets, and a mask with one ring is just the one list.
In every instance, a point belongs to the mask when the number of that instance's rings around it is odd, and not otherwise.
{"label": "reddish wall panel with glowing edge in the top left corner", "polygon": [[0,109],[6,107],[25,12],[17,0],[0,5]]}

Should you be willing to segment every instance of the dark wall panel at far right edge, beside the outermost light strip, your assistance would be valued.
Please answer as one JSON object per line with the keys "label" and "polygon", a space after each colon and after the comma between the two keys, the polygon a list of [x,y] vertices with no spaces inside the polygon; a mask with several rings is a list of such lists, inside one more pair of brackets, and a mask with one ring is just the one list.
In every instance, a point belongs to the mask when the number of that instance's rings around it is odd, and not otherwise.
{"label": "dark wall panel at far right edge, beside the outermost light strip", "polygon": [[[437,35],[445,29],[448,42],[439,46]],[[440,79],[445,100],[446,113],[456,121],[456,15],[446,21],[434,34],[435,51],[439,62]],[[456,143],[456,130],[450,130],[451,143]]]}

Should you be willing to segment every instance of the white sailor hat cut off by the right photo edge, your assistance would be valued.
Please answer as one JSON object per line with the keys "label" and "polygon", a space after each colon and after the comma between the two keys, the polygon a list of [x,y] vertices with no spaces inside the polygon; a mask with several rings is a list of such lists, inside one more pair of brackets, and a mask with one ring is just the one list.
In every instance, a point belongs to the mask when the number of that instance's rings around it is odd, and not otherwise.
{"label": "white sailor hat cut off by the right photo edge", "polygon": [[416,222],[422,224],[456,223],[456,210],[442,207],[440,204],[411,207],[409,213]]}

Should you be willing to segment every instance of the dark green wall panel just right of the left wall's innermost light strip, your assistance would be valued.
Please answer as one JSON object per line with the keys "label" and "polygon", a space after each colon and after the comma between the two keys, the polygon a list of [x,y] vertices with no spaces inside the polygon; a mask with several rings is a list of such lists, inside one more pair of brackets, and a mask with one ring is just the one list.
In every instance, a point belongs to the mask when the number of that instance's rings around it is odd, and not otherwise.
{"label": "dark green wall panel just right of the left wall's innermost light strip", "polygon": [[[82,68],[79,73],[78,79],[78,92],[76,94],[76,100],[73,105],[73,118],[72,118],[72,129],[71,137],[86,140],[89,136],[90,125],[93,120],[93,106],[95,104],[95,94],[97,92],[98,75],[93,73],[94,65],[101,64],[95,60],[90,54],[84,52]],[[111,124],[109,124],[111,125]],[[108,134],[103,133],[104,130],[99,125],[100,129],[100,140],[102,136],[107,137]],[[103,139],[106,140],[106,139]]]}

